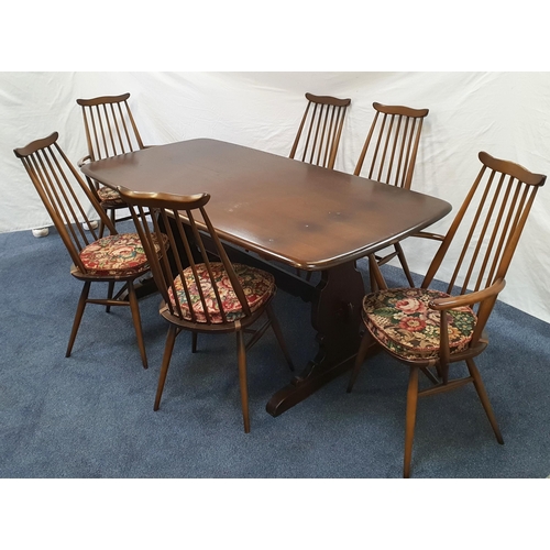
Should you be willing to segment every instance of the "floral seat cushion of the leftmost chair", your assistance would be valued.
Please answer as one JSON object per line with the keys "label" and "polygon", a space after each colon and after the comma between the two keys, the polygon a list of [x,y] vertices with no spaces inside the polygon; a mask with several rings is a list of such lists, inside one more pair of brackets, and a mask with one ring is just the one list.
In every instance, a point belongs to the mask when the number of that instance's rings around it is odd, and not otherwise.
{"label": "floral seat cushion of the leftmost chair", "polygon": [[90,275],[128,276],[148,270],[138,233],[103,237],[88,244],[80,252],[80,260]]}

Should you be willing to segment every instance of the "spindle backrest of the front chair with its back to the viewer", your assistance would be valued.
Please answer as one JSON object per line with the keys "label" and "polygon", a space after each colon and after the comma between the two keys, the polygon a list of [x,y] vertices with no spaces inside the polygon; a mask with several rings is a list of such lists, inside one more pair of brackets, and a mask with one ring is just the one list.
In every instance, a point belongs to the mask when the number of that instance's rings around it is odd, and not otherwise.
{"label": "spindle backrest of the front chair with its back to the viewer", "polygon": [[[206,212],[205,205],[210,200],[210,195],[177,196],[134,193],[124,188],[119,190],[130,207],[155,283],[173,316],[193,323],[232,322],[220,296],[219,282],[216,283],[220,263],[242,311],[245,316],[251,315],[242,286]],[[152,227],[144,217],[147,209],[152,213]],[[161,254],[155,252],[154,244],[157,241],[153,233],[165,233],[168,238]],[[167,253],[168,248],[170,254]],[[212,255],[216,261],[211,260]],[[211,295],[210,298],[207,296],[210,289],[213,299]],[[200,299],[195,308],[188,307],[196,301],[191,295],[197,294]],[[207,305],[209,299],[216,304]],[[211,315],[212,310],[216,318]]]}

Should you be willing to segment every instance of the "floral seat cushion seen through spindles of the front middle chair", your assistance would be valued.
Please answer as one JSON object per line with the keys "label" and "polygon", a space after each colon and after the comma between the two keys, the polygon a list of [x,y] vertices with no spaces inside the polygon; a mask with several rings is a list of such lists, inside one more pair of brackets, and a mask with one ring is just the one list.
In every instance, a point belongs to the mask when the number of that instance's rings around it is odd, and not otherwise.
{"label": "floral seat cushion seen through spindles of the front middle chair", "polygon": [[[233,287],[231,286],[231,282],[226,270],[223,268],[223,264],[220,262],[213,262],[210,265],[228,321],[233,322],[243,318],[245,314],[242,309],[239,298],[233,290]],[[255,311],[262,305],[266,304],[275,294],[275,277],[271,273],[266,273],[262,270],[256,270],[255,267],[250,267],[243,264],[233,264],[233,268],[244,290],[244,295],[246,296],[246,301],[251,311]],[[205,295],[205,301],[211,321],[213,323],[223,322],[223,318],[218,307],[218,300],[216,298],[213,287],[210,284],[210,277],[208,275],[208,272],[206,271],[205,264],[197,265],[197,273],[201,280],[201,288]],[[196,321],[207,322],[202,302],[200,300],[200,295],[198,293],[195,277],[190,267],[187,267],[184,271],[184,277],[189,288],[189,296],[191,299],[193,310],[195,311]],[[182,305],[184,319],[190,321],[193,320],[191,314],[189,311],[187,297],[185,295],[184,286],[182,284],[182,278],[179,275],[174,279],[174,285],[179,298],[179,302]],[[172,288],[168,292],[168,296],[172,304],[175,306]]]}

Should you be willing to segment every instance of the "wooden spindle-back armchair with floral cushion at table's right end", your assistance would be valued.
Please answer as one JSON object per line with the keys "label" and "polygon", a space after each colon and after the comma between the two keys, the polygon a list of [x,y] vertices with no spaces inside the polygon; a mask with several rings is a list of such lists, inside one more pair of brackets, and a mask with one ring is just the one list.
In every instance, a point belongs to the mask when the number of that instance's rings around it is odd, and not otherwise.
{"label": "wooden spindle-back armchair with floral cushion at table's right end", "polygon": [[[546,176],[484,152],[479,157],[482,162],[480,174],[448,233],[439,237],[441,244],[420,288],[386,288],[365,296],[363,300],[366,331],[348,392],[353,387],[371,344],[374,348],[378,344],[377,348],[410,369],[404,477],[410,475],[418,397],[472,383],[497,441],[504,443],[474,358],[488,344],[485,326],[498,294],[505,287],[506,272]],[[464,229],[462,222],[465,222]],[[430,289],[459,229],[464,241],[459,245],[458,263],[447,293]],[[462,361],[465,361],[470,375],[450,378],[450,366]],[[419,371],[432,382],[431,387],[419,389]]]}

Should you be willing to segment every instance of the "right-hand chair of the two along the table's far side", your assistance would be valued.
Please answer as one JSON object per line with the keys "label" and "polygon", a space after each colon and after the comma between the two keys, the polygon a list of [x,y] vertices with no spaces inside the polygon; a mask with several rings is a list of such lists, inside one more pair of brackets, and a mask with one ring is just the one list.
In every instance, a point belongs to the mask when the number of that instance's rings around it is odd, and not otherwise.
{"label": "right-hand chair of the two along the table's far side", "polygon": [[[429,110],[376,102],[373,108],[375,116],[353,174],[410,189],[422,122]],[[365,170],[362,174],[363,167]],[[400,243],[395,243],[392,249],[393,251],[385,255],[380,252],[371,254],[369,263],[376,262],[381,266],[397,257],[409,285],[415,286]],[[371,268],[372,290],[376,290],[374,272],[375,268]]]}

